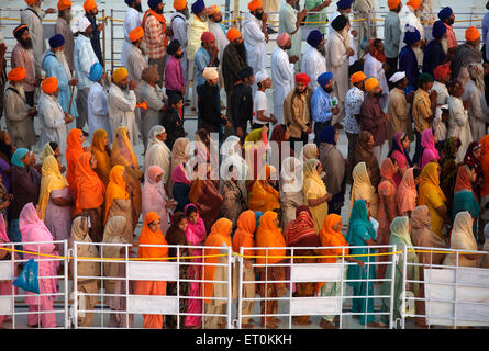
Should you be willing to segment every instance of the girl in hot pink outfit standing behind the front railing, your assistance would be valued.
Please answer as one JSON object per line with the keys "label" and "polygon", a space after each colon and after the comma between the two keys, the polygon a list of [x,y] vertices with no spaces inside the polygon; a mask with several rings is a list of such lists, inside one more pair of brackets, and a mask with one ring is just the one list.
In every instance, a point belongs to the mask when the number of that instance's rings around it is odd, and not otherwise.
{"label": "girl in hot pink outfit standing behind the front railing", "polygon": [[[188,204],[185,206],[185,215],[188,218],[187,229],[185,235],[187,237],[187,242],[190,246],[202,246],[205,240],[205,225],[203,219],[200,218],[199,210],[195,204]],[[191,256],[202,256],[202,249],[192,249],[190,251]],[[193,262],[202,263],[202,258],[193,259]],[[202,265],[190,265],[189,267],[189,279],[199,280],[201,276]],[[200,283],[190,283],[190,296],[201,296]],[[202,299],[189,299],[187,304],[188,314],[201,314],[202,313]],[[199,328],[201,325],[202,316],[186,316],[185,326],[187,328]]]}

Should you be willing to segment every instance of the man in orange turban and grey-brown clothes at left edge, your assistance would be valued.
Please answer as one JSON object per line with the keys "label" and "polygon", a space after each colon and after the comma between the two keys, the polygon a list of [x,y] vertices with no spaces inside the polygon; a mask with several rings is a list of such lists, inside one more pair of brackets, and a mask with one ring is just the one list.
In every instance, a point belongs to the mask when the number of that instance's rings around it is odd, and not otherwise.
{"label": "man in orange turban and grey-brown clothes at left edge", "polygon": [[12,145],[31,148],[35,143],[34,120],[35,107],[25,102],[24,79],[25,68],[13,68],[7,78],[9,83],[4,92],[3,107],[5,112],[7,132]]}

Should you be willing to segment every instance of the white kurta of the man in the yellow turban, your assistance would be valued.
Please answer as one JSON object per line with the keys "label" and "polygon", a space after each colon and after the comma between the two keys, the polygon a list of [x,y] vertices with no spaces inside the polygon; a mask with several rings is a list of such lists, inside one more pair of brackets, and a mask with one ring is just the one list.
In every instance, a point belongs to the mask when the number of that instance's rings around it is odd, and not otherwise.
{"label": "white kurta of the man in the yellow turban", "polygon": [[133,90],[126,89],[122,91],[118,84],[113,83],[109,89],[109,118],[112,129],[112,135],[121,125],[129,131],[131,144],[133,146],[138,144],[138,131],[136,125],[136,116],[134,110],[136,107],[136,94]]}

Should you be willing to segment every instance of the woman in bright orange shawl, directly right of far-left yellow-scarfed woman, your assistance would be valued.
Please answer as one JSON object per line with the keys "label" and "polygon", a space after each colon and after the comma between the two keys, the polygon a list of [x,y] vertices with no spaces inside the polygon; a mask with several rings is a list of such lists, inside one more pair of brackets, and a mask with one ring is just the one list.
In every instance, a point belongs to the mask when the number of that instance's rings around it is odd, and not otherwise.
{"label": "woman in bright orange shawl, directly right of far-left yellow-scarfed woman", "polygon": [[95,172],[97,159],[91,152],[81,154],[75,170],[77,188],[75,213],[90,217],[90,238],[100,242],[103,238],[103,200],[105,186]]}

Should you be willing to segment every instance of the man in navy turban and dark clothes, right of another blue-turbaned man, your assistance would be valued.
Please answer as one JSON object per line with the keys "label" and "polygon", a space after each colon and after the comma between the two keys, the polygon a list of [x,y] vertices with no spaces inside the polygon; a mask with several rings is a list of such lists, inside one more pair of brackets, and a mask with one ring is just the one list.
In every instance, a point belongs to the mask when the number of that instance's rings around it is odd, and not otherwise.
{"label": "man in navy turban and dark clothes, right of another blue-turbaned man", "polygon": [[446,25],[442,21],[433,24],[433,41],[431,41],[424,49],[423,73],[433,76],[433,69],[442,65],[448,53],[448,44],[446,42]]}

